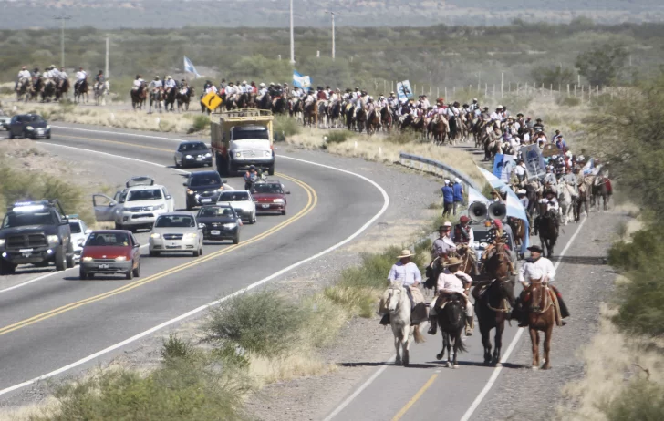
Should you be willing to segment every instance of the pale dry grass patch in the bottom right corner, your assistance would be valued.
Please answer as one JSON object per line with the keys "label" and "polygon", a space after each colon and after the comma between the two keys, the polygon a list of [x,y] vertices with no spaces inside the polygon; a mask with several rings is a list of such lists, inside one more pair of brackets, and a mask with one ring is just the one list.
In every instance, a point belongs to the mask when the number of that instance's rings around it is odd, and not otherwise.
{"label": "pale dry grass patch in the bottom right corner", "polygon": [[650,381],[664,385],[662,344],[653,347],[652,340],[621,334],[610,321],[616,311],[606,304],[600,311],[599,331],[582,350],[586,375],[563,389],[566,398],[557,408],[557,419],[606,421],[603,409],[624,394],[629,380],[646,377],[644,369],[648,369]]}

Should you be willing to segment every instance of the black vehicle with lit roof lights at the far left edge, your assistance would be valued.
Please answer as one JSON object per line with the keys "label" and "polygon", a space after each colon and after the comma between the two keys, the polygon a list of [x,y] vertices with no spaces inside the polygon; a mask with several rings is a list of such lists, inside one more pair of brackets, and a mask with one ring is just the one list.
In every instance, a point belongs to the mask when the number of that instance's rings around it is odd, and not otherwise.
{"label": "black vehicle with lit roof lights at the far left edge", "polygon": [[71,229],[57,200],[25,201],[7,208],[0,226],[0,273],[13,273],[16,265],[56,263],[58,271],[74,267]]}

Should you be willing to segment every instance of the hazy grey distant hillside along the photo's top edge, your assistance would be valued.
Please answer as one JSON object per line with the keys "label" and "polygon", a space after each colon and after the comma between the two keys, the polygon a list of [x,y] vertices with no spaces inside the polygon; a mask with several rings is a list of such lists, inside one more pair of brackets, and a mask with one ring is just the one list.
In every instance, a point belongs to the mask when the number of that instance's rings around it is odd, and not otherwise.
{"label": "hazy grey distant hillside along the photo's top edge", "polygon": [[[661,22],[660,0],[293,0],[296,26],[505,25],[524,21]],[[288,0],[0,0],[0,27],[287,26]]]}

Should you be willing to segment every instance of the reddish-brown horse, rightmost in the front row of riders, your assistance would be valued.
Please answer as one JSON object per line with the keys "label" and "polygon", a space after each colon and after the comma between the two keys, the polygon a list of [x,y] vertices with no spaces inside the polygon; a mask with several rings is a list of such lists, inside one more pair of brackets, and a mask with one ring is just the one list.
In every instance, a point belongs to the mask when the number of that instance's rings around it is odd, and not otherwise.
{"label": "reddish-brown horse, rightmost in the front row of riders", "polygon": [[555,302],[551,297],[552,291],[542,280],[531,281],[525,290],[528,306],[528,331],[533,344],[533,369],[539,369],[539,333],[545,333],[543,370],[551,368],[551,337],[554,331]]}

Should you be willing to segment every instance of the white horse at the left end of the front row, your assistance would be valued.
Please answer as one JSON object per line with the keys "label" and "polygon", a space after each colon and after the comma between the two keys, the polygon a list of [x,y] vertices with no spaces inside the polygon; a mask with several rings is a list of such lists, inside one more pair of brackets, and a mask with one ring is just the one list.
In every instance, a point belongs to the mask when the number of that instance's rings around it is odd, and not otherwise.
{"label": "white horse at the left end of the front row", "polygon": [[410,299],[406,288],[401,282],[392,282],[383,293],[383,302],[389,313],[389,324],[394,334],[394,348],[397,352],[394,363],[408,365],[411,336],[414,337],[416,344],[424,342],[424,337],[420,334],[420,324],[410,325]]}

